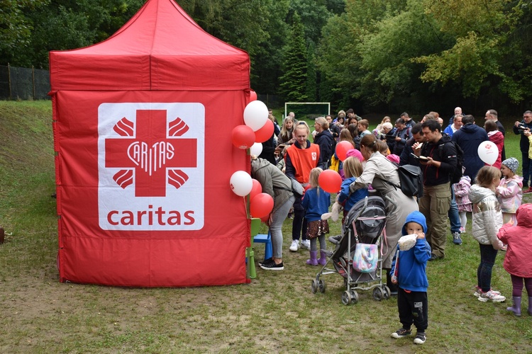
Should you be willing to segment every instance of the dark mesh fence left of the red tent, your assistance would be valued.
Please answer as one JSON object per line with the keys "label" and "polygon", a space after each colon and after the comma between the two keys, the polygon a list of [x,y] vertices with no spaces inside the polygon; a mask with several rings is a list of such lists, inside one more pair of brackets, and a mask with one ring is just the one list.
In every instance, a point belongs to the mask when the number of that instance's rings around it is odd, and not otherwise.
{"label": "dark mesh fence left of the red tent", "polygon": [[0,99],[49,99],[50,72],[42,69],[0,65]]}

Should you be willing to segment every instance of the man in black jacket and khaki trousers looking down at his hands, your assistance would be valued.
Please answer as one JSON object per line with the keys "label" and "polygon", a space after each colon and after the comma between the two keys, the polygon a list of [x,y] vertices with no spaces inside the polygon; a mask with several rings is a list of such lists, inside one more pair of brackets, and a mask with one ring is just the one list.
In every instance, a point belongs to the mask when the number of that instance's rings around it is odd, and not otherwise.
{"label": "man in black jacket and khaki trousers looking down at his hands", "polygon": [[456,169],[456,149],[448,135],[441,134],[437,120],[426,120],[421,125],[426,142],[421,147],[423,171],[423,197],[419,211],[427,219],[427,241],[431,244],[431,261],[445,256],[447,241],[447,215],[450,207],[450,174]]}

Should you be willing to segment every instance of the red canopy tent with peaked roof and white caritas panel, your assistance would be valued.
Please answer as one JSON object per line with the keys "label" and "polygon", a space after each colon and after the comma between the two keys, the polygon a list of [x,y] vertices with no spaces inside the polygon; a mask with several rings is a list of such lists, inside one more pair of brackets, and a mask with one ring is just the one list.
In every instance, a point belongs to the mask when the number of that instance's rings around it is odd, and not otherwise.
{"label": "red canopy tent with peaked roof and white caritas panel", "polygon": [[249,56],[172,0],[91,47],[50,52],[60,281],[246,282],[250,226],[229,180]]}

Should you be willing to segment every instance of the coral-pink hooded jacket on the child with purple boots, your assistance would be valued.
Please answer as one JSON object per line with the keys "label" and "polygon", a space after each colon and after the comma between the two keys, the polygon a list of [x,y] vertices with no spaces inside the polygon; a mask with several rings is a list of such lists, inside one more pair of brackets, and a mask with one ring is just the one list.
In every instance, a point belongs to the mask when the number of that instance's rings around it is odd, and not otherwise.
{"label": "coral-pink hooded jacket on the child with purple boots", "polygon": [[504,269],[512,275],[532,278],[532,204],[521,205],[516,212],[517,226],[504,224],[497,237],[508,244]]}

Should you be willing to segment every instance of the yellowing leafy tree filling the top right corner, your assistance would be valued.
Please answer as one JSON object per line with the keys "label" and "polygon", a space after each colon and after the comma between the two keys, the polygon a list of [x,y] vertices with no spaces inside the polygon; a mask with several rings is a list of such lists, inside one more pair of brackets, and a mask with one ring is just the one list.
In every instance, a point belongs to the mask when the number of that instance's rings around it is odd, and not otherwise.
{"label": "yellowing leafy tree filling the top right corner", "polygon": [[[455,82],[466,97],[476,98],[482,89],[493,91],[494,86],[514,102],[530,96],[530,42],[523,45],[526,41],[514,35],[518,30],[530,38],[528,1],[451,0],[427,2],[426,6],[454,42],[416,60],[426,66],[423,81]],[[521,25],[525,21],[528,30]]]}

